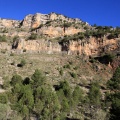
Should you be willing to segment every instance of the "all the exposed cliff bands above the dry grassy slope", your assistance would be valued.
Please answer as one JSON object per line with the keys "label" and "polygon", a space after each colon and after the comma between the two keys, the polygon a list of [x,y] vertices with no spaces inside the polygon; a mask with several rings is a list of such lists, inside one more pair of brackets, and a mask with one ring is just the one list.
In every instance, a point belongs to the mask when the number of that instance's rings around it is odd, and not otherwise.
{"label": "all the exposed cliff bands above the dry grassy slope", "polygon": [[[65,27],[66,23],[66,27]],[[78,27],[79,26],[79,27]],[[68,40],[68,42],[57,42],[58,37],[64,38],[66,35],[73,37],[78,32],[94,29],[88,23],[80,19],[72,19],[61,14],[50,13],[35,15],[29,14],[22,21],[0,19],[0,28],[10,28],[7,33],[1,32],[0,35],[14,37],[19,36],[19,40],[13,43],[12,48],[34,52],[67,52],[68,54],[79,54],[87,56],[99,56],[103,52],[120,50],[120,37],[107,39],[107,37],[90,37],[83,40]],[[12,29],[11,28],[15,28]],[[17,29],[16,29],[17,28]],[[23,31],[21,31],[21,29]],[[32,31],[32,30],[33,31]],[[20,32],[18,32],[19,30]],[[31,33],[39,36],[37,40],[27,40]],[[42,37],[41,37],[42,36]],[[41,38],[40,38],[41,37]],[[55,38],[52,42],[50,39]],[[0,43],[0,49],[8,49],[5,43]],[[11,46],[9,47],[9,49]]]}

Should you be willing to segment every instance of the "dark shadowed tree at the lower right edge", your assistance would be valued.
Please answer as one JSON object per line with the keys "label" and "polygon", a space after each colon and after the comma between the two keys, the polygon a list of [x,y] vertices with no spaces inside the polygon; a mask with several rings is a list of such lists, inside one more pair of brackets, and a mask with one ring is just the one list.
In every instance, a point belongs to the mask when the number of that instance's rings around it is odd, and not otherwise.
{"label": "dark shadowed tree at the lower right edge", "polygon": [[106,103],[110,106],[110,120],[120,119],[120,67],[118,67],[107,83],[110,93],[106,96]]}

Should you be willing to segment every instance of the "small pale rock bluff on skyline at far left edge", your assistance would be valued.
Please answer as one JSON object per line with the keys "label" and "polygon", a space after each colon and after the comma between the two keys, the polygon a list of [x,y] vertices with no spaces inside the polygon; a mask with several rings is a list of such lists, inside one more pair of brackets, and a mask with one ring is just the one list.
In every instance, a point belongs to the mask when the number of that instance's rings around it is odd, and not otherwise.
{"label": "small pale rock bluff on skyline at far left edge", "polygon": [[20,21],[0,19],[0,28],[15,28],[19,27]]}

